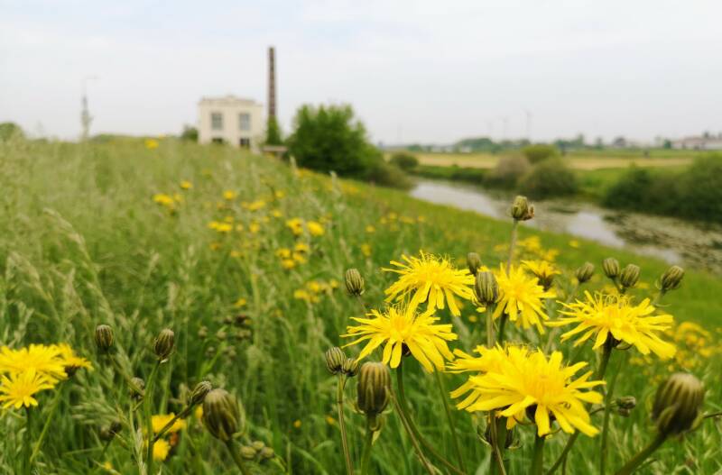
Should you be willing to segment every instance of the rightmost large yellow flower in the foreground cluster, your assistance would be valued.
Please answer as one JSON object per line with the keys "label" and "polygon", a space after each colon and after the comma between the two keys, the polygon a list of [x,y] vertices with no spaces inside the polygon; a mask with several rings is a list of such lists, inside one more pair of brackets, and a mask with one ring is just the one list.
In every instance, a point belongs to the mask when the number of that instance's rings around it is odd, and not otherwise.
{"label": "rightmost large yellow flower in the foreground cluster", "polygon": [[618,342],[633,344],[642,354],[654,352],[663,360],[674,356],[674,345],[664,342],[659,336],[659,333],[671,328],[674,318],[667,314],[652,315],[655,308],[649,298],[634,306],[626,296],[597,293],[592,297],[589,292],[584,295],[584,301],[563,304],[565,309],[560,311],[560,315],[565,316],[547,322],[549,326],[578,324],[561,335],[562,341],[578,336],[574,346],[579,346],[594,336],[594,348],[597,349],[612,337]]}

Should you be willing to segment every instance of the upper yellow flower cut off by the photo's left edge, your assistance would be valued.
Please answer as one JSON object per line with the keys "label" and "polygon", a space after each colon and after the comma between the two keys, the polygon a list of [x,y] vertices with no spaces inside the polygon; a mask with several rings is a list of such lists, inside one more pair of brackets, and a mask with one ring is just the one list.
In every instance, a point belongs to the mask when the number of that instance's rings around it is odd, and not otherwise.
{"label": "upper yellow flower cut off by the photo's left edge", "polygon": [[67,378],[60,349],[56,345],[31,344],[20,350],[7,346],[0,348],[0,373],[17,374],[28,370],[46,376],[51,383]]}

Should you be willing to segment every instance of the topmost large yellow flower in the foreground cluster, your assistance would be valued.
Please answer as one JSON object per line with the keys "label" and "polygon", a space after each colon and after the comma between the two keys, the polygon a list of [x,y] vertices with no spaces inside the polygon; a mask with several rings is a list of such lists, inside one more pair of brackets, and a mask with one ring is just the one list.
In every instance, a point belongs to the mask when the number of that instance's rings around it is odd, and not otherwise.
{"label": "topmost large yellow flower in the foreground cluster", "polygon": [[406,263],[392,260],[391,263],[399,269],[382,269],[386,272],[395,272],[399,279],[385,290],[387,302],[403,300],[412,295],[409,304],[411,311],[423,302],[427,302],[427,309],[444,308],[444,300],[449,304],[452,315],[461,315],[456,297],[471,300],[474,292],[474,276],[468,269],[456,269],[448,259],[432,254],[420,252],[420,257],[403,255]]}

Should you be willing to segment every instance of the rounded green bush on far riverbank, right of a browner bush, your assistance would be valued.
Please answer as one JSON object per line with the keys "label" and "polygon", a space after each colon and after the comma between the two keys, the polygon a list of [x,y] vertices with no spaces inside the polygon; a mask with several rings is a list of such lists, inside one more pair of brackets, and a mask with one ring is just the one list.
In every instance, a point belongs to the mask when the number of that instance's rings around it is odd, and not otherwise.
{"label": "rounded green bush on far riverbank, right of a browner bush", "polygon": [[519,190],[534,199],[577,193],[577,176],[561,159],[543,160],[519,181]]}

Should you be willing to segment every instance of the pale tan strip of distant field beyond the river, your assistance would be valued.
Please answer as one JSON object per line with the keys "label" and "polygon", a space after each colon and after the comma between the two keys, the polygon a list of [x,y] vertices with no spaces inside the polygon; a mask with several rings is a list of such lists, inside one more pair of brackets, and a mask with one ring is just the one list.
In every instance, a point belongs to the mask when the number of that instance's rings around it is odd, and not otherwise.
{"label": "pale tan strip of distant field beyond the river", "polygon": [[[688,165],[695,157],[692,151],[652,151],[650,157],[643,157],[640,151],[583,151],[567,155],[574,169],[619,169],[634,163],[640,167],[670,167]],[[491,153],[415,153],[422,165],[469,167],[475,169],[494,168],[503,155]]]}

